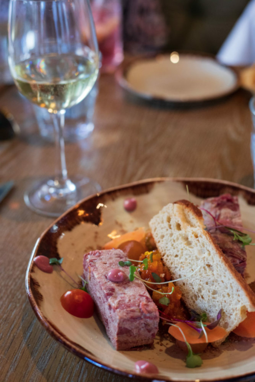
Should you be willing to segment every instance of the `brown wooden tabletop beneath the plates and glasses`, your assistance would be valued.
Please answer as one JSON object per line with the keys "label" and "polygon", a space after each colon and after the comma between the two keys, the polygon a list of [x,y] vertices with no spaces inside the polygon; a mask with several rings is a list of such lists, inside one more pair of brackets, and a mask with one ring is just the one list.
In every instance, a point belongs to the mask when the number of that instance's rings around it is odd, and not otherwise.
{"label": "brown wooden tabletop beneath the plates and glasses", "polygon": [[[66,145],[70,174],[86,174],[103,188],[158,176],[212,177],[252,184],[250,95],[239,91],[213,106],[167,110],[126,100],[111,75],[102,76],[95,130]],[[31,105],[15,87],[2,90],[21,137],[0,142],[0,182],[15,188],[0,205],[0,380],[112,381],[111,374],[73,356],[37,321],[24,288],[36,239],[52,222],[30,211],[23,192],[38,176],[53,174],[54,146],[39,137]]]}

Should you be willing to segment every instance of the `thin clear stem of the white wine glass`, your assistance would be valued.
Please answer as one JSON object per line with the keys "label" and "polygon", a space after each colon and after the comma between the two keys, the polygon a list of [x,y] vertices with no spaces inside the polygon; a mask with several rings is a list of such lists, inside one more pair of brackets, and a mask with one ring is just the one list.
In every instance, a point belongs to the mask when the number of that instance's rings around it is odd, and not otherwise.
{"label": "thin clear stem of the white wine glass", "polygon": [[67,181],[67,170],[65,160],[64,124],[65,111],[52,114],[55,129],[56,144],[56,169],[55,181],[59,186],[64,186]]}

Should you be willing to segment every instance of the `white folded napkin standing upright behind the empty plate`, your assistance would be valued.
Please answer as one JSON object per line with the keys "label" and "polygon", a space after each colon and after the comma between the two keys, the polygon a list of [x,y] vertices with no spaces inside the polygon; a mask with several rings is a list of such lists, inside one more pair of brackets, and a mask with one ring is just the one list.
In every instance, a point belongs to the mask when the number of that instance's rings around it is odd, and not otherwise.
{"label": "white folded napkin standing upright behind the empty plate", "polygon": [[221,46],[217,59],[225,65],[255,62],[255,0],[251,0]]}

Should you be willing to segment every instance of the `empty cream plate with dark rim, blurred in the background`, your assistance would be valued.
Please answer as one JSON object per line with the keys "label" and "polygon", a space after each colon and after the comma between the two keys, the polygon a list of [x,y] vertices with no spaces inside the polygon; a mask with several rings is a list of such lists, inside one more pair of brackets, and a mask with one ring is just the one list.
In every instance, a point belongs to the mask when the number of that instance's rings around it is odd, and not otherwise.
{"label": "empty cream plate with dark rim, blurred in the background", "polygon": [[118,75],[131,93],[173,103],[205,102],[224,97],[238,87],[236,73],[206,56],[173,52],[135,60]]}

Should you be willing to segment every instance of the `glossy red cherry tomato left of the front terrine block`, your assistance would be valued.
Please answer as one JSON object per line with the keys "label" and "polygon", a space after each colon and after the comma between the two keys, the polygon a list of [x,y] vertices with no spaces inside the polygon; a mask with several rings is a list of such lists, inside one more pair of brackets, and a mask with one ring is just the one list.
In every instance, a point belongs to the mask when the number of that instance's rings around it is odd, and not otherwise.
{"label": "glossy red cherry tomato left of the front terrine block", "polygon": [[94,302],[82,289],[68,290],[62,294],[60,301],[62,307],[75,317],[89,318],[94,313]]}

